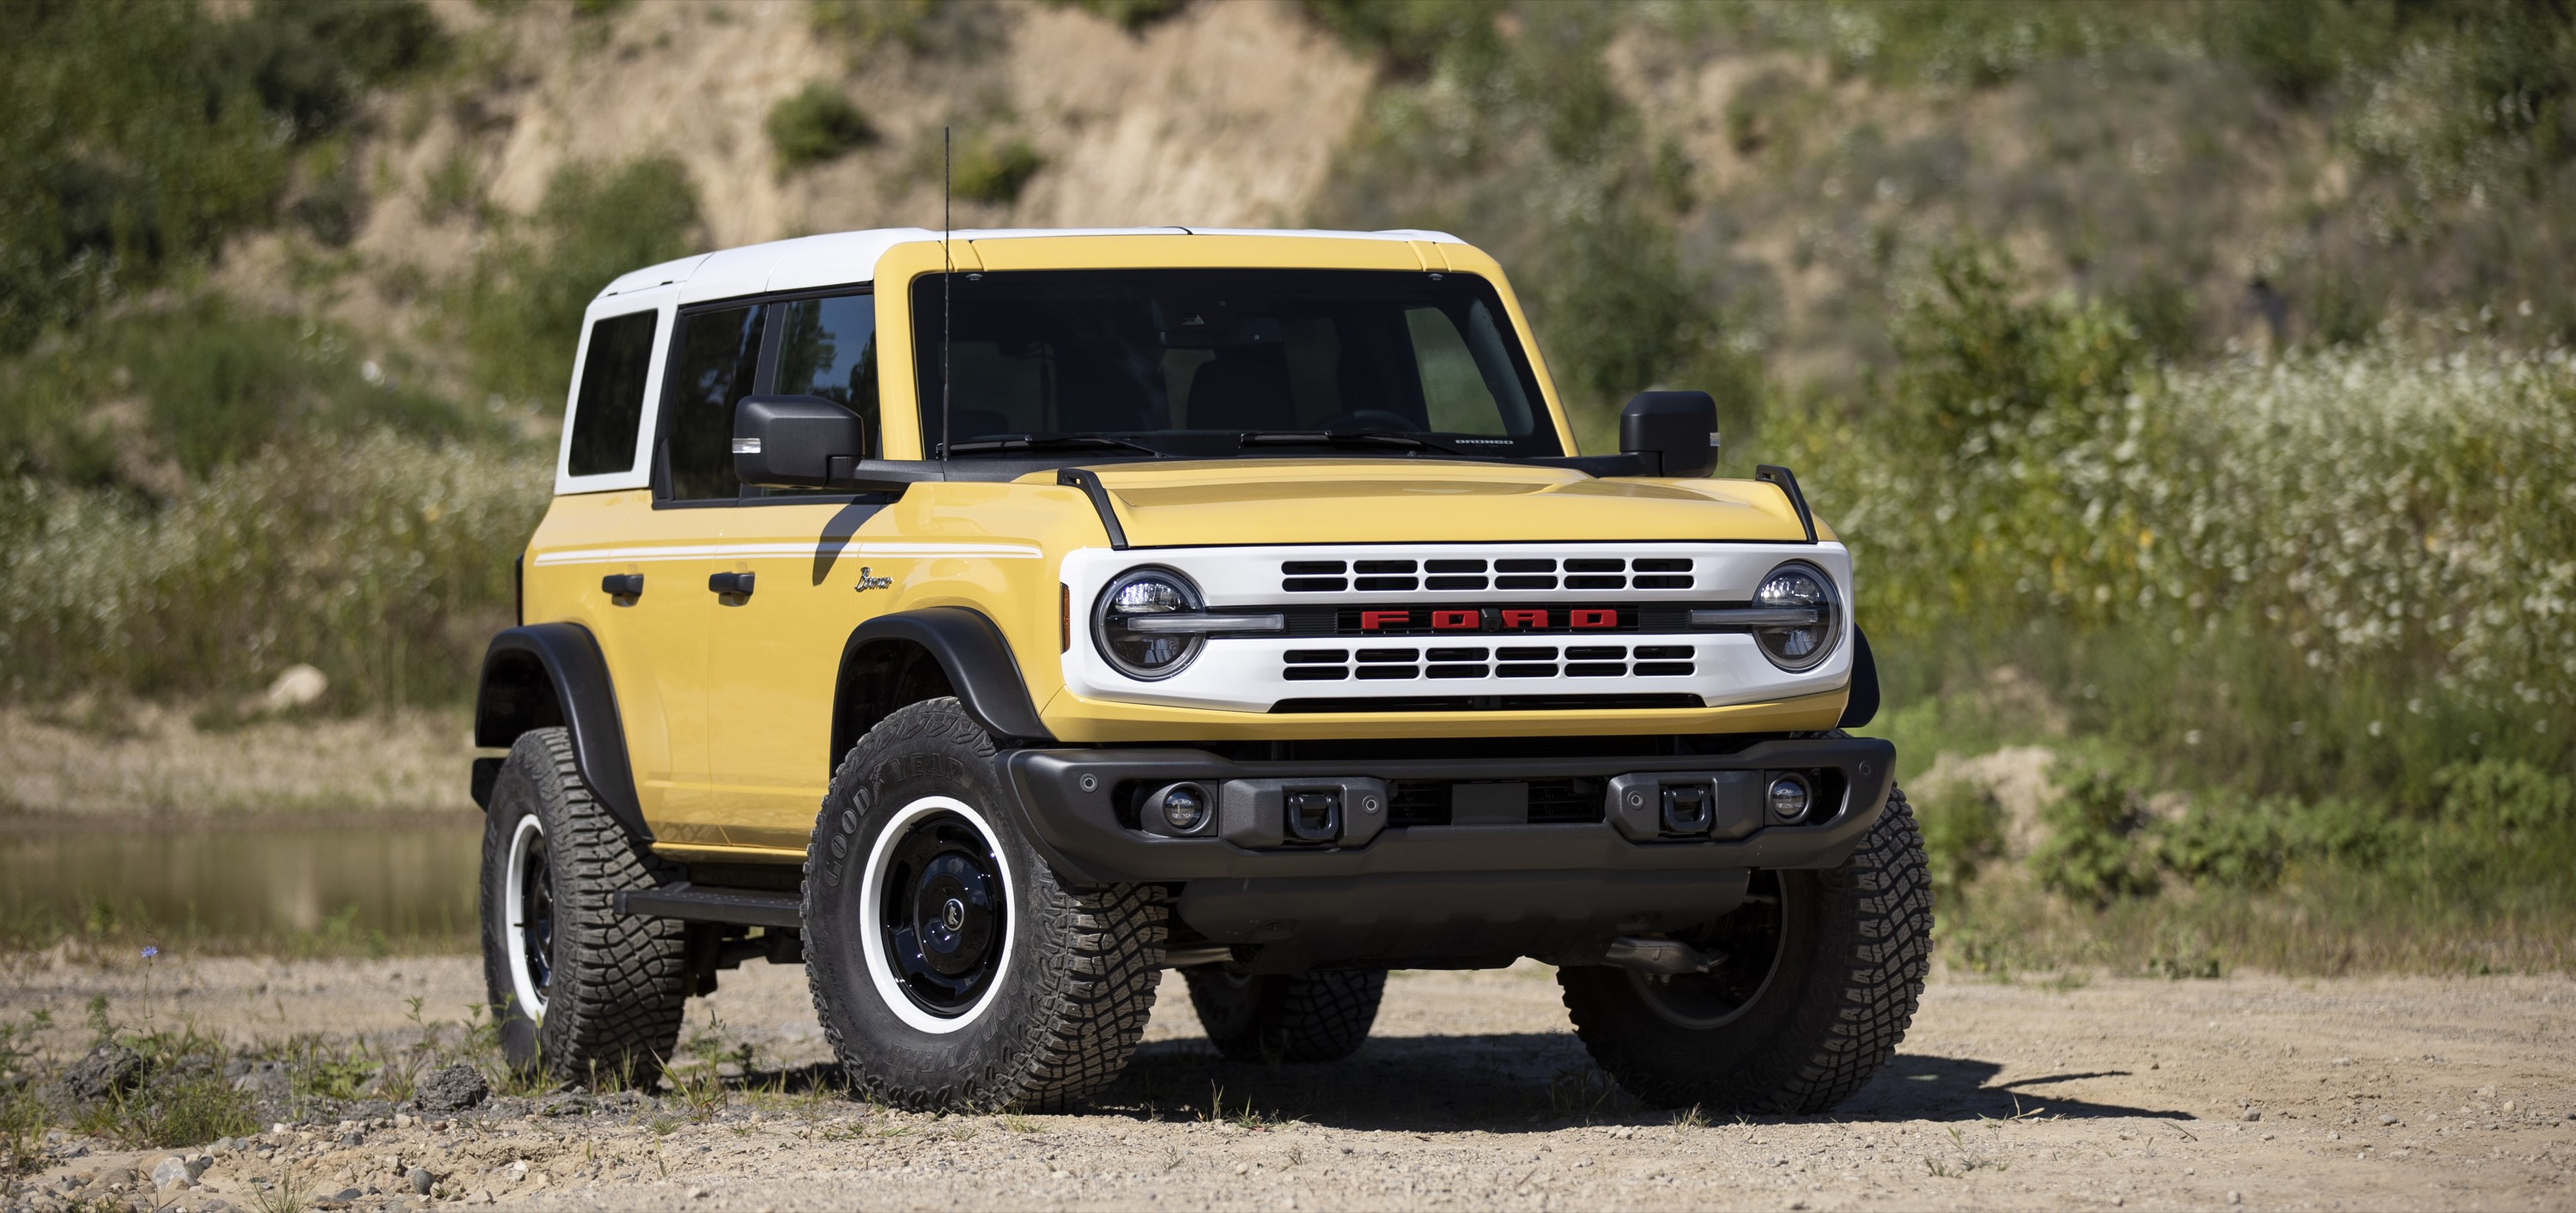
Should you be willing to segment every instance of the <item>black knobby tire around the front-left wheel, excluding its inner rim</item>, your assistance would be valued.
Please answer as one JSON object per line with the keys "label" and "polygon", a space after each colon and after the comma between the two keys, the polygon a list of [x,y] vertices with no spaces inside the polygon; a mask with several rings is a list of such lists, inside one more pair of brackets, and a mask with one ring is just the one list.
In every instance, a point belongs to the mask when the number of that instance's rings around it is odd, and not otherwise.
{"label": "black knobby tire around the front-left wheel, excluding its inner rim", "polygon": [[[863,932],[881,907],[860,894],[889,824],[927,798],[974,809],[1002,863],[1010,932],[997,945],[989,997],[940,1033],[907,1022],[922,1007],[871,971]],[[943,811],[945,814],[945,811]],[[956,814],[948,814],[956,816]],[[917,819],[914,819],[917,822]],[[896,845],[899,840],[886,840]],[[992,737],[935,698],[868,729],[824,796],[806,845],[806,984],[824,1038],[858,1097],[909,1110],[1066,1110],[1126,1069],[1162,979],[1162,886],[1061,881],[1020,834]],[[878,937],[878,948],[891,948]],[[951,1020],[940,1020],[951,1022]]]}

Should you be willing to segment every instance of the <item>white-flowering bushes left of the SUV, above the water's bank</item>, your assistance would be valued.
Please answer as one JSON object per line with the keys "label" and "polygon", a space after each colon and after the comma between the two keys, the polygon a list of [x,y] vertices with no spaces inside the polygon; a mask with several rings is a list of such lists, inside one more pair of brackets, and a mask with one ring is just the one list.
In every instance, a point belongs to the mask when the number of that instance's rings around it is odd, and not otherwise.
{"label": "white-flowering bushes left of the SUV, above the water's bank", "polygon": [[0,487],[10,698],[247,690],[309,662],[332,701],[453,703],[507,626],[541,456],[397,435],[276,448],[149,510]]}

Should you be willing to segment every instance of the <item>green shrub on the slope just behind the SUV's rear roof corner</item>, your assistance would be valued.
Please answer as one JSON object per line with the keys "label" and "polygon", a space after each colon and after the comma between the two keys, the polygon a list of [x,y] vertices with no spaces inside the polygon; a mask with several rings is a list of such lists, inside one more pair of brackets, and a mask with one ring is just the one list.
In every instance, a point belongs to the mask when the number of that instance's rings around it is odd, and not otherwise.
{"label": "green shrub on the slope just behind the SUV's rear roof corner", "polygon": [[616,276],[703,240],[698,188],[672,157],[554,170],[528,229],[487,245],[459,301],[477,379],[541,407],[562,402],[582,309]]}

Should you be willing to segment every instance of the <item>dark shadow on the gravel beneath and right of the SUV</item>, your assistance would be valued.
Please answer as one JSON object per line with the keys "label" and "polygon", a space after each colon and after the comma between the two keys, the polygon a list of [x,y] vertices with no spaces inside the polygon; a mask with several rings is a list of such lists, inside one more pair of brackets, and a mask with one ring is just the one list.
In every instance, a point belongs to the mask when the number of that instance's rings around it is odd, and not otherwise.
{"label": "dark shadow on the gravel beneath and right of the SUV", "polygon": [[[2179,1110],[2058,1097],[2053,1087],[2123,1071],[1994,1082],[1999,1071],[1994,1061],[1899,1053],[1832,1120],[2192,1118]],[[1154,1040],[1136,1051],[1095,1107],[1159,1120],[1306,1120],[1409,1133],[1651,1125],[1677,1118],[1674,1110],[1646,1107],[1618,1089],[1566,1033],[1381,1035],[1347,1061],[1306,1066],[1239,1064],[1206,1040]]]}

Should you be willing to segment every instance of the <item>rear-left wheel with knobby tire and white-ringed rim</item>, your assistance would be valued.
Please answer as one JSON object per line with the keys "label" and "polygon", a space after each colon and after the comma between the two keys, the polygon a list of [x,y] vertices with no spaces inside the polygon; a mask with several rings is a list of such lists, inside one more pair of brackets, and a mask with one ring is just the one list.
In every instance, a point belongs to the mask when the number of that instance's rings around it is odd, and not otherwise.
{"label": "rear-left wheel with knobby tire and white-ringed rim", "polygon": [[484,816],[484,989],[518,1069],[652,1084],[680,1040],[680,925],[621,917],[662,863],[582,783],[564,729],[520,734]]}

